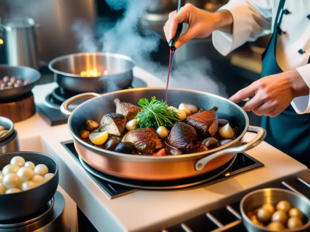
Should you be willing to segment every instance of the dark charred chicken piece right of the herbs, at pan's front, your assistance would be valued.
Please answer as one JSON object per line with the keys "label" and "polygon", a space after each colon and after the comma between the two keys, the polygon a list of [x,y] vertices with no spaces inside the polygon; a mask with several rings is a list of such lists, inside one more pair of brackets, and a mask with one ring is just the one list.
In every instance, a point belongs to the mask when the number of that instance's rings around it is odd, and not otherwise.
{"label": "dark charred chicken piece right of the herbs, at pan's front", "polygon": [[192,149],[197,144],[197,132],[185,122],[176,122],[167,137],[167,144],[179,149]]}

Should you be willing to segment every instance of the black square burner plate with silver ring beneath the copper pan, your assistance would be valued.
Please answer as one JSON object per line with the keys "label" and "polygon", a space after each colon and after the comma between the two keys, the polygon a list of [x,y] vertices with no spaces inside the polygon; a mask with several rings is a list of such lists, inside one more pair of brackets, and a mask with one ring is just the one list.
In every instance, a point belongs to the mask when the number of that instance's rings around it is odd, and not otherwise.
{"label": "black square burner plate with silver ring beneath the copper pan", "polygon": [[99,172],[85,164],[83,161],[81,163],[79,155],[74,148],[73,140],[62,142],[61,144],[69,152],[69,154],[71,154],[75,160],[82,165],[84,169],[86,169],[89,176],[111,199],[137,191],[137,188],[177,189],[205,187],[263,166],[261,162],[257,161],[253,157],[250,157],[245,153],[238,153],[230,162],[221,168],[197,177],[167,182],[128,180]]}

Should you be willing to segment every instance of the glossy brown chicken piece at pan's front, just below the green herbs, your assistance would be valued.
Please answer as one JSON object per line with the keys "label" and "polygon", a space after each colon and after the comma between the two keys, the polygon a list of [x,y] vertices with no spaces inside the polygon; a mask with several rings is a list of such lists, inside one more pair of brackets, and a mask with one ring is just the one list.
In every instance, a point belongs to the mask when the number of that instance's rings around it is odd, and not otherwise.
{"label": "glossy brown chicken piece at pan's front, just below the green herbs", "polygon": [[139,128],[124,135],[122,142],[131,142],[140,153],[152,154],[162,148],[162,141],[153,128]]}

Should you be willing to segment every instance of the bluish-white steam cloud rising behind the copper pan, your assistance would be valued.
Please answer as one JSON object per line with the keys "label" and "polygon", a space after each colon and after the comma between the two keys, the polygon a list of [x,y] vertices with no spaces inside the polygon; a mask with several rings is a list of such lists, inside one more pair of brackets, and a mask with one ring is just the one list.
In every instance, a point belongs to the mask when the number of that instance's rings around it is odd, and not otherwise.
{"label": "bluish-white steam cloud rising behind the copper pan", "polygon": [[[158,1],[158,0],[156,0]],[[100,26],[96,28],[101,46],[97,46],[93,30],[78,20],[73,24],[73,30],[80,41],[81,52],[103,51],[119,53],[133,58],[139,67],[151,72],[166,83],[168,67],[153,62],[150,55],[157,51],[160,36],[139,24],[139,19],[145,9],[154,5],[154,0],[106,0],[114,9],[124,9],[124,14],[114,25],[106,18],[101,18]],[[139,28],[138,28],[139,25]],[[142,31],[143,36],[138,32]],[[167,56],[169,51],[167,51]],[[178,50],[175,51],[175,57]],[[173,65],[170,76],[170,88],[190,88],[226,96],[225,87],[215,82],[207,73],[211,73],[211,65],[207,59],[196,59]],[[109,91],[117,87],[110,82]]]}

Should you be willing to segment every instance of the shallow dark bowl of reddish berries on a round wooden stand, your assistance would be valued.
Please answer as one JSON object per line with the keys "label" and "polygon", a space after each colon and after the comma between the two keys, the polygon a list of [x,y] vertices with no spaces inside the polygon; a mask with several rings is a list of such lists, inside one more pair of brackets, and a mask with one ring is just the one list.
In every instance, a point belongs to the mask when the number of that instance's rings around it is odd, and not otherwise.
{"label": "shallow dark bowl of reddish berries on a round wooden stand", "polygon": [[40,79],[39,71],[24,66],[0,65],[0,100],[23,96]]}

